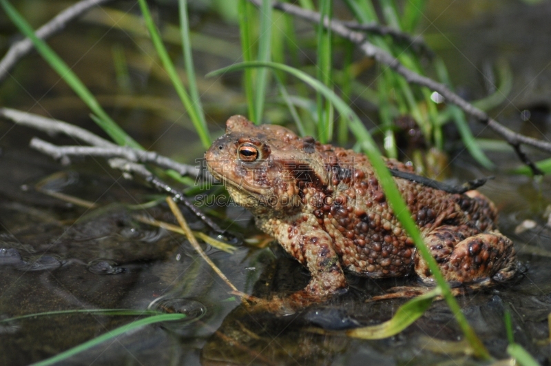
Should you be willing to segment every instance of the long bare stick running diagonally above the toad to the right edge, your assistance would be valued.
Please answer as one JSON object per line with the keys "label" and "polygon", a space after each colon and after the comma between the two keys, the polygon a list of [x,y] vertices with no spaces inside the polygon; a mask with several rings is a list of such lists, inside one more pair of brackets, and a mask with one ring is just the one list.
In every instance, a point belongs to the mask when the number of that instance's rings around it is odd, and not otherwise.
{"label": "long bare stick running diagonally above the toad to the right edge", "polygon": [[[249,0],[251,3],[255,4],[256,6],[260,6],[260,0]],[[313,12],[311,10],[306,10],[303,8],[300,8],[298,6],[291,5],[290,3],[279,3],[275,2],[272,4],[273,8],[282,10],[284,12],[287,12],[288,14],[294,15],[296,17],[300,17],[302,19],[305,19],[307,21],[310,21],[312,23],[319,23],[320,22],[320,14],[318,12]],[[461,98],[461,96],[455,94],[455,92],[451,91],[446,87],[446,85],[442,83],[437,83],[433,79],[430,79],[428,77],[424,77],[420,74],[417,74],[417,72],[413,72],[412,70],[409,70],[406,68],[402,63],[400,63],[395,57],[393,57],[388,52],[382,50],[381,48],[378,48],[377,46],[373,45],[369,41],[366,41],[365,34],[361,32],[356,32],[354,30],[351,30],[347,28],[344,23],[337,21],[335,19],[324,19],[324,26],[326,28],[331,28],[331,30],[335,34],[339,34],[341,37],[348,39],[349,41],[356,43],[357,45],[360,45],[360,49],[366,54],[367,57],[373,57],[378,62],[388,66],[389,68],[395,70],[398,74],[402,75],[408,83],[415,83],[422,86],[426,86],[429,89],[435,90],[436,92],[439,92],[446,100],[450,103],[453,103],[457,105],[461,110],[464,110],[467,114],[470,114],[471,116],[474,116],[476,119],[481,121],[482,123],[488,125],[489,128],[497,132],[497,134],[500,134],[503,139],[507,141],[510,145],[512,145],[513,148],[515,148],[515,152],[519,152],[519,150],[516,148],[520,144],[526,144],[530,145],[534,148],[537,148],[539,150],[543,150],[545,152],[551,153],[551,143],[541,141],[538,139],[533,139],[532,137],[524,136],[522,134],[517,134],[517,132],[514,132],[505,126],[501,125],[499,122],[495,121],[494,119],[491,119],[486,112],[480,110],[479,108],[476,108],[471,103],[468,103],[465,99]],[[527,158],[525,156],[519,156],[521,158],[521,161],[526,163]],[[529,165],[530,167],[534,167],[533,163]],[[534,172],[534,174],[541,174],[539,170]]]}

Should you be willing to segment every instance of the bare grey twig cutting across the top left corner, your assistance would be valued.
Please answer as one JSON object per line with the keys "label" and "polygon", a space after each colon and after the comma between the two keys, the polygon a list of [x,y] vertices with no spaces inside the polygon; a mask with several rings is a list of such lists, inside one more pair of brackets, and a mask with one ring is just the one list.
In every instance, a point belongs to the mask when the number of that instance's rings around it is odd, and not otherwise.
{"label": "bare grey twig cutting across the top left corner", "polygon": [[[52,20],[48,21],[48,23],[45,23],[43,26],[37,29],[35,34],[37,34],[37,37],[39,37],[40,39],[47,39],[48,37],[52,36],[52,34],[56,34],[60,30],[63,30],[63,28],[67,26],[67,23],[76,19],[77,17],[80,17],[84,12],[90,10],[90,8],[94,8],[94,6],[99,6],[109,1],[112,0],[79,1],[73,6],[70,6],[69,8],[63,10],[62,12],[57,14]],[[30,52],[32,48],[32,41],[28,38],[17,41],[11,45],[8,52],[6,52],[6,55],[0,61],[0,81],[6,78],[8,72],[14,67],[17,61],[19,61],[21,57],[25,56],[25,54],[28,54],[28,52]]]}

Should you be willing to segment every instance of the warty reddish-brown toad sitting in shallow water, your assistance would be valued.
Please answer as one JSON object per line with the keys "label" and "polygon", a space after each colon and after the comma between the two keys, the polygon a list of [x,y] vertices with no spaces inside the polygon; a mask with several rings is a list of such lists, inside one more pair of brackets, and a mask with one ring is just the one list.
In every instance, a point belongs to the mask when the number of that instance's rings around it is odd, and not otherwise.
{"label": "warty reddish-brown toad sitting in shallow water", "polygon": [[[308,267],[312,278],[302,296],[324,298],[346,287],[343,270],[371,278],[415,270],[423,281],[433,281],[363,154],[232,116],[205,159],[258,227]],[[413,172],[397,161],[386,163]],[[514,275],[512,242],[497,230],[497,210],[486,197],[395,182],[447,281],[483,283]]]}

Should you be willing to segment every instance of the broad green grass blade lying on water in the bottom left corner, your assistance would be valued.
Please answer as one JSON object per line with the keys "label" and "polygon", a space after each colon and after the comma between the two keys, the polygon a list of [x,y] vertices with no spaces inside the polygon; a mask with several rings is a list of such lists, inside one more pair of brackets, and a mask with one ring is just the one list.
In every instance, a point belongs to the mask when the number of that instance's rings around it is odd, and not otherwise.
{"label": "broad green grass blade lying on water in the bottom left corner", "polygon": [[129,332],[139,327],[143,327],[144,325],[160,323],[163,321],[179,321],[185,317],[186,317],[185,314],[162,314],[162,315],[149,316],[148,318],[140,319],[139,321],[133,321],[132,323],[123,325],[122,327],[115,328],[111,331],[108,331],[105,334],[102,334],[101,336],[88,340],[87,342],[82,343],[81,345],[67,349],[67,351],[61,352],[61,354],[56,354],[56,356],[47,358],[38,363],[33,363],[32,365],[34,366],[53,365],[54,363],[58,363],[62,360],[66,360],[67,358],[70,358],[76,354],[86,351],[87,349],[95,347],[96,345],[99,345],[105,342],[106,340],[116,338],[121,334],[124,334],[126,332]]}

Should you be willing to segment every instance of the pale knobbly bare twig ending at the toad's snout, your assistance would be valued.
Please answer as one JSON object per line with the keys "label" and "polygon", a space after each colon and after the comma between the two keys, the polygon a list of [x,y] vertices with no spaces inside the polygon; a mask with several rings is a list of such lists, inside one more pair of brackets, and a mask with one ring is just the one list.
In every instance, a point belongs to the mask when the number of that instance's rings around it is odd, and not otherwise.
{"label": "pale knobbly bare twig ending at the toad's snout", "polygon": [[178,163],[153,151],[144,151],[127,146],[56,146],[52,143],[34,137],[30,147],[48,154],[54,159],[63,159],[69,156],[101,156],[103,158],[123,158],[133,163],[152,163],[164,169],[176,170],[180,175],[198,176],[200,171],[193,165]]}

